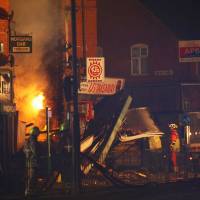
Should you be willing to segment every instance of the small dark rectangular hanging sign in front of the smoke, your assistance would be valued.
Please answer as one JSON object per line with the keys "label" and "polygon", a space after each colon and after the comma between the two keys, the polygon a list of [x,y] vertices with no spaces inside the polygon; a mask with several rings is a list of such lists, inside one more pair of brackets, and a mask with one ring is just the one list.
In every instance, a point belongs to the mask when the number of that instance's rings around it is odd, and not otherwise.
{"label": "small dark rectangular hanging sign in front of the smoke", "polygon": [[11,36],[10,53],[32,53],[32,36]]}

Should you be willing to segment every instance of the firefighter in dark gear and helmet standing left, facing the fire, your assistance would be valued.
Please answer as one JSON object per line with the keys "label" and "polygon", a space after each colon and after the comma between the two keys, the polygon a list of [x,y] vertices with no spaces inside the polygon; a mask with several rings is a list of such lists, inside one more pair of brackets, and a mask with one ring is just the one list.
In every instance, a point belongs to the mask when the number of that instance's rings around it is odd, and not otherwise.
{"label": "firefighter in dark gear and helmet standing left, facing the fire", "polygon": [[38,171],[38,141],[37,138],[40,134],[40,129],[34,126],[30,131],[30,137],[27,139],[24,145],[24,153],[26,156],[26,170],[27,181],[25,194],[29,195],[33,193],[37,183],[37,171]]}

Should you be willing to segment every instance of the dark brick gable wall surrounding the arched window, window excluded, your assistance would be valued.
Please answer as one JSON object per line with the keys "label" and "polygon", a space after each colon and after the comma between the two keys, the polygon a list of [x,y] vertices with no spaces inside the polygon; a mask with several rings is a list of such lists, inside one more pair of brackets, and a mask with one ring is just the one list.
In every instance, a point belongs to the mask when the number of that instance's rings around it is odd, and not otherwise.
{"label": "dark brick gable wall surrounding the arched window, window excluded", "polygon": [[[178,61],[178,38],[138,0],[97,0],[98,46],[105,56],[106,76],[130,82],[191,81],[193,68]],[[149,74],[131,76],[130,47],[149,47]]]}

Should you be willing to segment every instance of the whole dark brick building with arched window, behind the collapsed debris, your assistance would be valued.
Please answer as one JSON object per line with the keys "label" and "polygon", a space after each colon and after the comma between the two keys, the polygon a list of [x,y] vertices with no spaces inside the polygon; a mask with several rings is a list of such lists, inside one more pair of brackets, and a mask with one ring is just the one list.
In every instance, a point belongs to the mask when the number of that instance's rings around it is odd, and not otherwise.
{"label": "whole dark brick building with arched window, behind the collapsed debris", "polygon": [[[191,27],[181,34],[175,30],[194,23],[179,20],[172,28],[139,0],[97,0],[97,8],[98,48],[105,57],[106,76],[126,79],[133,106],[148,106],[166,129],[181,113],[200,111],[199,64],[179,62],[178,46],[180,40],[199,37],[190,37]],[[186,30],[190,34],[183,37]]]}

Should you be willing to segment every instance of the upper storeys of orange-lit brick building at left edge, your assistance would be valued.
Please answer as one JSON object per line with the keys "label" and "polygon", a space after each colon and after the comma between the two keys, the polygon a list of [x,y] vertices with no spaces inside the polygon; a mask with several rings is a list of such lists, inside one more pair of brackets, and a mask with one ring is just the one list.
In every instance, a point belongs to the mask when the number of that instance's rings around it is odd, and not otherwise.
{"label": "upper storeys of orange-lit brick building at left edge", "polygon": [[0,104],[2,111],[13,109],[13,69],[9,53],[10,4],[8,0],[0,3]]}

